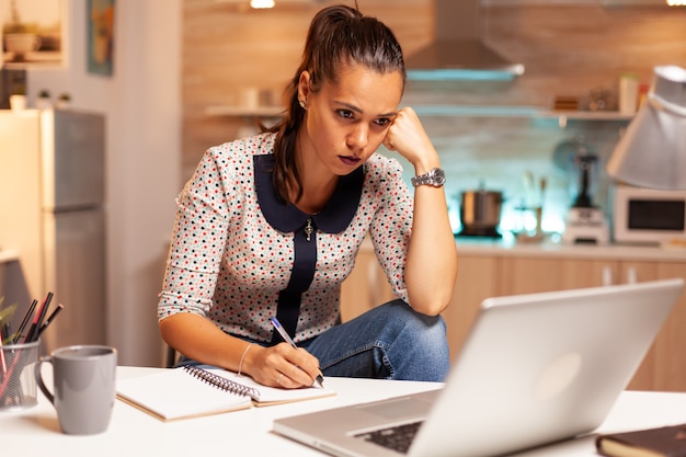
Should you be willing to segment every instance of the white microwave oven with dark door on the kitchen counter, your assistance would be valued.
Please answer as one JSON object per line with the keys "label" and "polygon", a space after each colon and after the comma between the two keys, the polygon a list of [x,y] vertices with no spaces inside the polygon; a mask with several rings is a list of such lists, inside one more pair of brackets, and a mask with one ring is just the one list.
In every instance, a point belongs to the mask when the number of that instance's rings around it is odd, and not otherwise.
{"label": "white microwave oven with dark door on the kitchen counter", "polygon": [[617,243],[659,244],[686,238],[686,191],[617,185],[613,207]]}

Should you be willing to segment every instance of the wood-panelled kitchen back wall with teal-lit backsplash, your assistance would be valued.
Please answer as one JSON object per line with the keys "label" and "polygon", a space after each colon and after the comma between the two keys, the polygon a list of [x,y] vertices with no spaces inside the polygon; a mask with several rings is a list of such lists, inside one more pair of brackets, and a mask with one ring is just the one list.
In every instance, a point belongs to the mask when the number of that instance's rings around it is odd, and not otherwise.
{"label": "wood-panelled kitchen back wall with teal-lit backsplash", "polygon": [[[241,105],[249,88],[278,94],[298,64],[309,20],[331,3],[240,11],[229,2],[184,1],[182,176],[191,175],[208,146],[254,129],[250,116],[209,115],[208,108]],[[561,127],[554,113],[521,113],[550,108],[556,95],[584,98],[606,90],[611,99],[624,72],[649,83],[655,65],[686,66],[686,10],[601,3],[483,0],[484,41],[523,62],[525,75],[512,82],[409,83],[403,104],[418,108],[442,155],[454,209],[461,191],[483,182],[504,192],[504,225],[513,228],[528,170],[548,183],[544,228],[562,230],[578,181],[564,169],[579,145],[598,157],[596,203],[606,205],[604,162],[627,121],[569,121]],[[382,0],[358,4],[395,31],[407,55],[432,37],[431,0],[396,1],[392,11]],[[436,105],[459,110],[435,115]],[[407,174],[409,180],[411,170]]]}

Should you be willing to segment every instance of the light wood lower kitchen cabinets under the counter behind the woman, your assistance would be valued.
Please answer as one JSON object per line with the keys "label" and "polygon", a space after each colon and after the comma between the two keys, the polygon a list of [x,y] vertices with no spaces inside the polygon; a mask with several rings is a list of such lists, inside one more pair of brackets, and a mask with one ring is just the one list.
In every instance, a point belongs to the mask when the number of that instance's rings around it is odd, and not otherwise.
{"label": "light wood lower kitchen cabinets under the counter behind the woman", "polygon": [[[588,251],[581,251],[583,249]],[[544,248],[466,251],[460,250],[455,292],[450,306],[443,313],[451,356],[457,355],[481,301],[488,297],[686,278],[686,255],[663,255],[659,250],[644,253],[641,249],[602,250],[591,247],[565,248],[559,252]],[[370,249],[368,252],[363,249],[353,273],[343,283],[343,320],[392,298],[376,256]],[[613,329],[608,329],[608,339],[613,338],[611,332]],[[686,391],[684,347],[686,294],[682,295],[667,318],[629,389]]]}

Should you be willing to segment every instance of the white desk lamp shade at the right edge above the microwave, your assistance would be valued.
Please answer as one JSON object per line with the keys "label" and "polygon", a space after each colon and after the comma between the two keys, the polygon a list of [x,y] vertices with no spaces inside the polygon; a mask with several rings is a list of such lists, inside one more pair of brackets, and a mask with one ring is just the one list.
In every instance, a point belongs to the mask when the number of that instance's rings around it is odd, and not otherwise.
{"label": "white desk lamp shade at the right edge above the microwave", "polygon": [[645,102],[607,163],[619,182],[686,190],[686,70],[655,67]]}

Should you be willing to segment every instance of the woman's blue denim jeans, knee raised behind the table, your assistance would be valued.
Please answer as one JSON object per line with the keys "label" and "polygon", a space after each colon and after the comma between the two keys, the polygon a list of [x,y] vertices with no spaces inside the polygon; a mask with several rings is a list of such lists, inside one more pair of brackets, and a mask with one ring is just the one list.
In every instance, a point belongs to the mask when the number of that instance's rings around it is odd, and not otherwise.
{"label": "woman's blue denim jeans, knee raised behind the table", "polygon": [[319,359],[324,376],[443,381],[450,367],[443,318],[400,299],[299,345]]}

